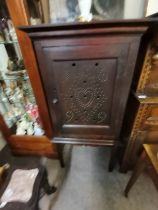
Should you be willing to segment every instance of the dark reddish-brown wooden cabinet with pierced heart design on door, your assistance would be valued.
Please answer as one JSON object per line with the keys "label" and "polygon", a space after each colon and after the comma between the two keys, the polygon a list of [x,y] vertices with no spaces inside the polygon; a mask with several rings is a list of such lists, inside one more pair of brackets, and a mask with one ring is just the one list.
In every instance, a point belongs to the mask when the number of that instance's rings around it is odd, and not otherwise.
{"label": "dark reddish-brown wooden cabinet with pierced heart design on door", "polygon": [[156,24],[149,18],[20,27],[36,53],[52,142],[114,146],[113,168],[139,49],[144,44],[143,58]]}

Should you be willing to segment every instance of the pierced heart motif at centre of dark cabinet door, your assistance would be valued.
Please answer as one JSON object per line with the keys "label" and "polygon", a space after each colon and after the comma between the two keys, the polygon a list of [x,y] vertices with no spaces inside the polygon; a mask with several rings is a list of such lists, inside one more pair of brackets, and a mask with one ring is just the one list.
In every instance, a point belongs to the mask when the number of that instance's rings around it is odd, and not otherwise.
{"label": "pierced heart motif at centre of dark cabinet door", "polygon": [[75,92],[75,98],[77,99],[80,106],[87,108],[94,100],[93,90],[90,88],[79,88]]}

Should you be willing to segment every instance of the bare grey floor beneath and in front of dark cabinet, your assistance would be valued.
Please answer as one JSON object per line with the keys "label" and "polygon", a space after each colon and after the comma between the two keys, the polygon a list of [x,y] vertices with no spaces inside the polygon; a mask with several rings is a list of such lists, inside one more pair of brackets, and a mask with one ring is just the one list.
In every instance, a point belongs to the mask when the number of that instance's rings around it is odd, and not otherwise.
{"label": "bare grey floor beneath and in front of dark cabinet", "polygon": [[129,194],[123,195],[131,173],[118,169],[109,173],[110,151],[107,148],[74,146],[67,148],[67,167],[58,161],[44,159],[49,182],[58,191],[40,200],[42,210],[157,210],[158,192],[147,174],[143,174]]}

